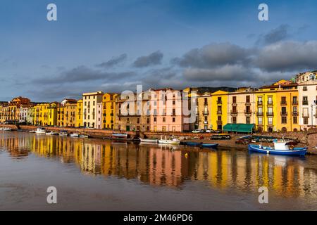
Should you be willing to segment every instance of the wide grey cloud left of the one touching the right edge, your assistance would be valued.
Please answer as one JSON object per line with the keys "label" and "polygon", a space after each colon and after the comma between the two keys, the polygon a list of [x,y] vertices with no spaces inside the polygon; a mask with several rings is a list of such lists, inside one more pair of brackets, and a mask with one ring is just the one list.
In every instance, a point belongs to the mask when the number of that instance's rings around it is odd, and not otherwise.
{"label": "wide grey cloud left of the one touching the right edge", "polygon": [[180,67],[217,68],[223,65],[247,64],[252,49],[244,49],[230,43],[209,44],[201,49],[192,49],[171,63]]}

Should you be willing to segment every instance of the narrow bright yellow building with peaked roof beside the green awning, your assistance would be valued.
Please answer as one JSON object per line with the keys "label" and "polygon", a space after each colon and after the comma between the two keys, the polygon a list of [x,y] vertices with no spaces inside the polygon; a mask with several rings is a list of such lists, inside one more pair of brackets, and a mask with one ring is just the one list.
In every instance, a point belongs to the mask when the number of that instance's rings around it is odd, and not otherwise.
{"label": "narrow bright yellow building with peaked roof beside the green awning", "polygon": [[211,128],[222,130],[228,121],[228,92],[216,91],[211,94]]}

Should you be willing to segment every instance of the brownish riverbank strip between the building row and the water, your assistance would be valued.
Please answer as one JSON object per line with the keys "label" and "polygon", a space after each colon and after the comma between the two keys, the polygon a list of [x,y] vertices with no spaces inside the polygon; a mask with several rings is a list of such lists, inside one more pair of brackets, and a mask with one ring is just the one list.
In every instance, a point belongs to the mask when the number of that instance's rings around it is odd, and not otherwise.
{"label": "brownish riverbank strip between the building row and the water", "polygon": [[[8,127],[13,130],[17,130],[18,127],[15,125],[9,124],[0,124],[0,127]],[[23,131],[30,131],[37,129],[36,126],[29,126],[29,125],[20,125],[20,129]],[[82,129],[82,128],[69,128],[69,127],[45,127],[47,131],[68,131],[68,133],[80,133],[86,134],[92,138],[97,139],[109,139],[111,138],[113,131],[112,130],[99,130],[99,129]],[[128,131],[130,136],[137,135],[135,131]],[[218,143],[218,148],[236,148],[240,150],[247,150],[246,144],[237,144],[235,143],[237,137],[243,136],[244,134],[230,134],[230,140],[210,140],[210,133],[203,133],[203,134],[193,134],[193,133],[180,133],[180,132],[143,132],[140,134],[141,136],[146,135],[149,138],[160,138],[160,136],[183,136],[185,137],[185,141],[191,142],[198,142],[198,143]],[[299,131],[299,132],[281,132],[281,133],[264,133],[263,135],[273,136],[277,139],[282,139],[284,136],[285,139],[293,139],[298,140],[299,146],[307,146],[308,147],[308,154],[317,155],[317,131]],[[197,139],[199,136],[202,136],[204,139]]]}

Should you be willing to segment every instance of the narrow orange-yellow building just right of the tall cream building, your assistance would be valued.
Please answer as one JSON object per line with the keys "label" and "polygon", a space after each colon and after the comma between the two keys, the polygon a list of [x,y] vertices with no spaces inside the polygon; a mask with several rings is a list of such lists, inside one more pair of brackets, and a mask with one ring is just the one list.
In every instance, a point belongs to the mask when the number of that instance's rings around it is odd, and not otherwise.
{"label": "narrow orange-yellow building just right of the tall cream building", "polygon": [[102,129],[114,128],[116,96],[118,96],[118,94],[106,93],[102,97]]}

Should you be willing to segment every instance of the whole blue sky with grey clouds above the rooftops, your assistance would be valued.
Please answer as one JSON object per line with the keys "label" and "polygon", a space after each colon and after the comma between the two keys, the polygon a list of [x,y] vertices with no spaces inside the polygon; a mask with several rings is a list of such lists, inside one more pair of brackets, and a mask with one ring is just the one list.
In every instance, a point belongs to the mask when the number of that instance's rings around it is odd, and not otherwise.
{"label": "whole blue sky with grey clouds above the rooftops", "polygon": [[[46,6],[57,6],[48,21]],[[258,19],[268,5],[268,21]],[[262,86],[317,70],[317,1],[1,0],[0,101]]]}

